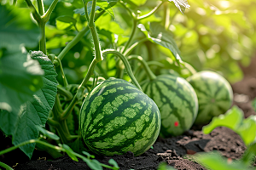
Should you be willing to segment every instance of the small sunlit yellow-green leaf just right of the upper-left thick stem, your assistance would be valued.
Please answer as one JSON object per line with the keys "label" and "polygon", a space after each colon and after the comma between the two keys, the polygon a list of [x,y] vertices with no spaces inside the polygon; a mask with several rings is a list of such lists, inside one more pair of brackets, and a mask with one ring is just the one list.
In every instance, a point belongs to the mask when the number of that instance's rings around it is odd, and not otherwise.
{"label": "small sunlit yellow-green leaf just right of the upper-left thick stem", "polygon": [[72,16],[59,16],[56,18],[56,27],[59,30],[70,30],[73,26],[76,26],[77,20]]}

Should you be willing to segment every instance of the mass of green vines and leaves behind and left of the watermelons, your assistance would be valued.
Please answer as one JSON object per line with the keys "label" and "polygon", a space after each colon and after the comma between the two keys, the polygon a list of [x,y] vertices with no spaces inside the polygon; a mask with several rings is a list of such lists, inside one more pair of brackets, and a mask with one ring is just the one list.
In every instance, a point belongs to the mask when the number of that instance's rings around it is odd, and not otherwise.
{"label": "mass of green vines and leaves behind and left of the watermelons", "polygon": [[[139,82],[148,77],[137,61],[128,62],[130,54],[141,55],[156,76],[189,77],[195,72],[193,65],[200,71],[219,71],[236,82],[241,78],[238,65],[249,63],[256,43],[254,3],[1,1],[1,131],[12,138],[13,149],[20,147],[29,158],[35,147],[60,156],[47,150],[55,147],[73,160],[82,158],[91,168],[106,167],[73,151],[88,148],[81,129],[72,129],[67,120],[90,91],[109,77],[130,81],[142,90]],[[71,91],[68,87],[75,84]],[[41,127],[58,134],[59,147],[40,137]],[[108,168],[118,168],[114,161],[109,163],[113,167]]]}

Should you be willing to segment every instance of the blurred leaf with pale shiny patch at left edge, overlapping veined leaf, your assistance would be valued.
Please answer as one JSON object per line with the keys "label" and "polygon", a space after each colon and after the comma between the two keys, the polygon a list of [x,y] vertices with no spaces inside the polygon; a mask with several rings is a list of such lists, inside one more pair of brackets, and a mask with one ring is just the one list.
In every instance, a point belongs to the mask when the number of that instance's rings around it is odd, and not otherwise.
{"label": "blurred leaf with pale shiny patch at left edge, overlapping veined leaf", "polygon": [[0,109],[18,114],[20,105],[43,86],[38,61],[19,51],[3,51],[0,58]]}

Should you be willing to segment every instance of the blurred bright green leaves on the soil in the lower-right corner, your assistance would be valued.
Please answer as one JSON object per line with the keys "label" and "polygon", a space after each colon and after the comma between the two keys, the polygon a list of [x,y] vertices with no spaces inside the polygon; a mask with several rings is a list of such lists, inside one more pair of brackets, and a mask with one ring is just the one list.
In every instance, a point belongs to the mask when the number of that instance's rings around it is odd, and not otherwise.
{"label": "blurred bright green leaves on the soil in the lower-right corner", "polygon": [[232,161],[215,152],[197,154],[195,160],[212,170],[220,168],[230,170],[252,169],[250,166],[253,156],[256,154],[256,116],[249,116],[244,119],[243,112],[237,106],[233,106],[225,115],[214,117],[212,122],[203,127],[202,131],[203,133],[211,133],[215,127],[229,127],[241,136],[241,139],[247,145],[247,150],[241,157],[241,160]]}

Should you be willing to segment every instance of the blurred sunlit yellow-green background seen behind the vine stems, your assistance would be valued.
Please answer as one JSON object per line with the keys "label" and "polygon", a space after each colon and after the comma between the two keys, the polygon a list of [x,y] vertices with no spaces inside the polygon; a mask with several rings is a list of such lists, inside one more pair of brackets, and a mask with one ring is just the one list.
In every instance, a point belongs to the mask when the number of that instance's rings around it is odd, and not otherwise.
{"label": "blurred sunlit yellow-green background seen behind the vine stems", "polygon": [[[52,0],[44,0],[45,7],[48,8],[51,2]],[[159,2],[124,0],[124,3],[134,12],[147,14]],[[140,24],[148,28],[150,22],[159,22],[170,31],[180,50],[181,59],[192,65],[196,71],[217,71],[231,83],[241,81],[243,78],[241,67],[247,67],[255,55],[256,2],[188,0],[188,3],[190,8],[182,14],[173,2],[166,2],[154,15],[141,20]],[[26,7],[26,3],[21,0],[18,1],[18,5]],[[62,10],[63,8],[66,10]],[[46,28],[46,45],[49,54],[60,54],[67,43],[84,26],[87,26],[84,15],[81,15],[81,8],[83,8],[81,0],[62,0],[56,5]],[[113,10],[108,9],[108,12],[96,20],[102,49],[122,47],[130,36],[131,25],[130,14],[119,3],[113,6]],[[144,37],[143,32],[137,29],[132,43]],[[173,73],[173,70],[177,70],[177,62],[170,50],[153,42],[141,43],[131,54],[139,54],[148,61],[157,60],[164,64],[165,68],[161,72],[157,66],[151,66],[155,74]],[[62,59],[68,82],[80,83],[92,59],[93,44],[88,31]],[[96,71],[101,76],[114,77],[116,75],[114,60],[115,58],[111,56],[103,60],[97,65]],[[132,65],[132,68],[135,66]],[[60,73],[58,79],[62,82]],[[183,77],[189,74],[185,70],[179,73],[183,74]],[[142,75],[143,73],[137,74],[138,79],[143,80],[145,77]]]}

